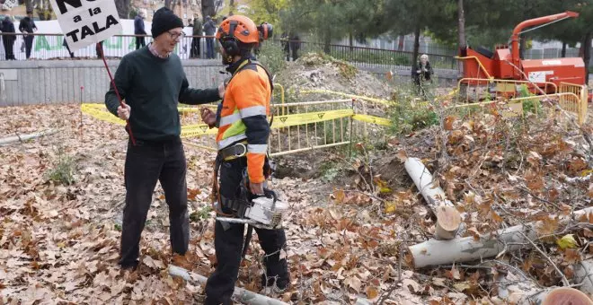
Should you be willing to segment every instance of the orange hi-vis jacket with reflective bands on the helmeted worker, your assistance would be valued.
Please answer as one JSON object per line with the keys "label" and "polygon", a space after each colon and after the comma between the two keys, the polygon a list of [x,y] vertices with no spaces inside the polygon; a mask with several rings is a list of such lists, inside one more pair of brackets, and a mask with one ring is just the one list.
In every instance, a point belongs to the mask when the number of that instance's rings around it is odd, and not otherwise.
{"label": "orange hi-vis jacket with reflective bands on the helmeted worker", "polygon": [[225,99],[218,121],[218,150],[232,144],[247,142],[249,180],[265,180],[263,165],[270,135],[271,83],[266,70],[244,59],[226,86]]}

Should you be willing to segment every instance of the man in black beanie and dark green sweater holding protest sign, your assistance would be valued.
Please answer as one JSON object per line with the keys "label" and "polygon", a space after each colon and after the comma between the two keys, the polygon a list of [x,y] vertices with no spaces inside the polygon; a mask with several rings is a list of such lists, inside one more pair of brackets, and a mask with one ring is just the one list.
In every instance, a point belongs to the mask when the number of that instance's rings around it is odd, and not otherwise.
{"label": "man in black beanie and dark green sweater holding protest sign", "polygon": [[178,101],[204,104],[220,100],[225,87],[190,89],[181,60],[173,53],[182,37],[183,22],[173,11],[161,8],[153,17],[154,41],[123,57],[105,104],[113,115],[129,119],[136,144],[128,142],[124,179],[126,205],[123,212],[119,265],[135,268],[140,235],[144,230],[156,181],[161,182],[169,205],[171,246],[184,255],[190,238],[187,211],[186,160],[181,144]]}

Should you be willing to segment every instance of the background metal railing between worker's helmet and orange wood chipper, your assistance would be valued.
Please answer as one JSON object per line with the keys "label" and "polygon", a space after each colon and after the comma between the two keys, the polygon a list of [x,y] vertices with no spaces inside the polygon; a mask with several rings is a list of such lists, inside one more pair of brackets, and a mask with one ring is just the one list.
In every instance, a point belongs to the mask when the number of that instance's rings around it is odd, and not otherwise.
{"label": "background metal railing between worker's helmet and orange wood chipper", "polygon": [[[364,48],[350,47],[344,45],[325,45],[323,43],[297,41],[297,40],[270,40],[266,43],[273,43],[285,49],[285,52],[291,48],[291,45],[297,45],[297,55],[308,52],[325,52],[332,57],[357,63],[365,67],[375,67],[381,65],[394,65],[409,68],[414,63],[412,52],[396,51],[383,48]],[[292,53],[292,51],[291,51]],[[420,54],[419,54],[420,56]],[[430,65],[433,68],[456,69],[456,58],[448,55],[428,54]],[[292,57],[292,55],[290,56]],[[416,60],[417,61],[417,60]]]}

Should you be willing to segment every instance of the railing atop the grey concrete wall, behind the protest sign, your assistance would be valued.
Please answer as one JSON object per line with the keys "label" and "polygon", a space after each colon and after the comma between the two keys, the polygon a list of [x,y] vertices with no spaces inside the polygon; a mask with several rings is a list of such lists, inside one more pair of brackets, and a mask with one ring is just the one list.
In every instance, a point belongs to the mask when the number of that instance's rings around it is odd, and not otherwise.
{"label": "railing atop the grey concrete wall, behind the protest sign", "polygon": [[[0,60],[6,58],[9,53],[7,48],[13,50],[14,60],[26,60],[27,50],[24,37],[32,36],[31,58],[32,59],[63,59],[70,58],[68,49],[64,42],[63,34],[28,34],[22,33],[0,33]],[[147,45],[153,38],[146,35],[114,35],[102,42],[105,57],[123,57],[129,52],[136,50],[137,39],[144,39]],[[207,40],[212,39],[212,54],[210,59],[219,59],[217,42],[212,36],[183,36],[173,52],[181,59],[205,58],[207,59]],[[197,48],[199,46],[199,48]],[[192,52],[193,48],[193,52]],[[7,52],[8,51],[8,52]],[[99,58],[95,45],[81,48],[74,52],[74,59]]]}

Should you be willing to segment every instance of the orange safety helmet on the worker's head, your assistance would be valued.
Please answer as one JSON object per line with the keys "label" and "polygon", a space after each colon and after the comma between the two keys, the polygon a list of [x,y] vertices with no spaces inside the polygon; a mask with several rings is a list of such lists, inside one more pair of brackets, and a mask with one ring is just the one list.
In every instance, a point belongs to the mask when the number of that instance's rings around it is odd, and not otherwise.
{"label": "orange safety helmet on the worker's head", "polygon": [[243,15],[232,15],[217,30],[217,39],[236,39],[243,43],[259,43],[260,34],[255,22]]}

